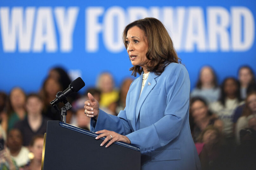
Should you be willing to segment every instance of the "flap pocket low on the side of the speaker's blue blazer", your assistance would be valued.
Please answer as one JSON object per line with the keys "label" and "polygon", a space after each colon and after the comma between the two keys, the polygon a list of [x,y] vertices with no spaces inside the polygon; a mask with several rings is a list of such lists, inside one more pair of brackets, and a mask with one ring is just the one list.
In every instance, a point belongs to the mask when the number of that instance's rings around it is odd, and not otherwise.
{"label": "flap pocket low on the side of the speaker's blue blazer", "polygon": [[170,160],[180,160],[181,151],[178,148],[170,149],[159,149],[151,152],[151,161],[170,161]]}

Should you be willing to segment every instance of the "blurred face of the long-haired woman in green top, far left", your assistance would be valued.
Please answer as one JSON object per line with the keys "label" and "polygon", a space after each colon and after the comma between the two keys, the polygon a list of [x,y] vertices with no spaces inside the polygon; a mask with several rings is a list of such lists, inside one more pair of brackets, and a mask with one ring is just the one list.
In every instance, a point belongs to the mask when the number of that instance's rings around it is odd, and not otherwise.
{"label": "blurred face of the long-haired woman in green top, far left", "polygon": [[13,107],[23,107],[25,105],[26,96],[21,89],[15,88],[10,94],[10,101]]}

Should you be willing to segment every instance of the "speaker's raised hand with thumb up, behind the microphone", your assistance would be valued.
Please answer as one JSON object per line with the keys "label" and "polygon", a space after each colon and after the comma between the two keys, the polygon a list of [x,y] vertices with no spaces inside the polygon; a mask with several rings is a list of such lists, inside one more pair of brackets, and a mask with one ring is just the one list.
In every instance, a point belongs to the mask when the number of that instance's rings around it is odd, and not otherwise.
{"label": "speaker's raised hand with thumb up, behind the microphone", "polygon": [[99,102],[94,99],[93,95],[88,93],[89,100],[84,102],[84,113],[89,118],[95,118],[97,120],[100,109],[99,109]]}

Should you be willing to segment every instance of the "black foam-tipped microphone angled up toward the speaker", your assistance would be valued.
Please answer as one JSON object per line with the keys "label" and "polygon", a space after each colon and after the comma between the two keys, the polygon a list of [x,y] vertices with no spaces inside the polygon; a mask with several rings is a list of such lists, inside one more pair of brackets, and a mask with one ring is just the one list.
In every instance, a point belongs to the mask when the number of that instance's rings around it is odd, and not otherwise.
{"label": "black foam-tipped microphone angled up toward the speaker", "polygon": [[56,105],[59,102],[66,102],[67,97],[75,92],[78,92],[81,88],[85,86],[85,83],[83,82],[81,77],[78,77],[75,79],[73,82],[69,84],[69,87],[63,91],[63,92],[58,92],[56,94],[56,98],[50,102],[52,106]]}

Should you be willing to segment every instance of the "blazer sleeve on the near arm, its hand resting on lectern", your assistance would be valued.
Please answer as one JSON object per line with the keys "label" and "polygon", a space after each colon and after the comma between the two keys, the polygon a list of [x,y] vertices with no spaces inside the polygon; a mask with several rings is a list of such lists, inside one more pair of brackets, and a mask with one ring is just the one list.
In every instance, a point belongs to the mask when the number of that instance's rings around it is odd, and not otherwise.
{"label": "blazer sleeve on the near arm, its hand resting on lectern", "polygon": [[[188,116],[190,81],[186,68],[176,67],[166,82],[167,107],[156,123],[126,135],[131,144],[140,147],[141,153],[165,146],[179,136]],[[157,104],[156,104],[157,106]]]}

